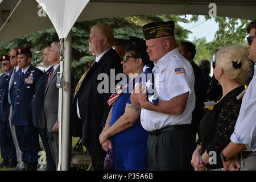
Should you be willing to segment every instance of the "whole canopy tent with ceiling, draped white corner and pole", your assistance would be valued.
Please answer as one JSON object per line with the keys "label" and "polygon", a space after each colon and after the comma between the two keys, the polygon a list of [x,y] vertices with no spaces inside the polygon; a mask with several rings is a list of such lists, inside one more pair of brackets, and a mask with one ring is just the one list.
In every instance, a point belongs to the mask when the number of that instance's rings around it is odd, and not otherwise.
{"label": "whole canopy tent with ceiling, draped white corner and pole", "polygon": [[[38,2],[46,10],[44,16]],[[70,91],[69,83],[71,80],[71,39],[72,35],[68,32],[75,22],[89,19],[108,18],[112,16],[143,15],[143,14],[197,14],[208,15],[210,0],[197,1],[174,1],[174,0],[0,0],[0,44],[13,40],[23,35],[30,34],[39,30],[55,27],[63,43],[64,66],[63,88],[60,88],[60,118],[63,119],[62,132],[65,133],[61,138],[62,150],[61,166],[59,169],[68,169],[68,127],[69,127],[69,105]],[[242,19],[256,18],[255,0],[214,1],[217,5],[218,16],[229,16]],[[87,5],[86,5],[87,4]],[[72,6],[71,6],[72,5]],[[85,6],[86,5],[86,6]],[[84,8],[85,7],[85,8]],[[81,14],[80,14],[81,13]],[[77,18],[77,16],[79,16]],[[49,17],[49,18],[48,18]],[[65,42],[63,41],[65,38]],[[63,71],[63,72],[62,72]],[[61,74],[60,74],[61,75]],[[63,96],[62,96],[63,94]],[[61,108],[62,106],[62,108]],[[61,122],[60,122],[61,123]]]}

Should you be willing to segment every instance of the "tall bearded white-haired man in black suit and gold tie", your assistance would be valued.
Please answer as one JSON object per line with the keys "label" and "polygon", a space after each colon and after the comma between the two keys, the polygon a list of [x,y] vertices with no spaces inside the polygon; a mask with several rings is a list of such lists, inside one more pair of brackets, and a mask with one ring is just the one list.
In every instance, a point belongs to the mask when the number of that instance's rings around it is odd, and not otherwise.
{"label": "tall bearded white-haired man in black suit and gold tie", "polygon": [[[110,106],[107,101],[111,95],[110,89],[110,69],[114,71],[113,76],[122,72],[121,59],[114,51],[113,28],[106,24],[97,24],[90,30],[89,50],[96,55],[96,60],[90,68],[82,75],[76,86],[75,98],[72,105],[72,123],[77,121],[82,129],[82,144],[86,147],[92,157],[92,164],[95,170],[103,170],[106,152],[102,150],[99,136],[103,126],[105,126]],[[105,73],[108,75],[108,92],[101,93],[98,90],[98,75]],[[104,87],[104,89],[106,89]],[[75,122],[76,123],[76,122]],[[79,130],[79,128],[77,128]]]}

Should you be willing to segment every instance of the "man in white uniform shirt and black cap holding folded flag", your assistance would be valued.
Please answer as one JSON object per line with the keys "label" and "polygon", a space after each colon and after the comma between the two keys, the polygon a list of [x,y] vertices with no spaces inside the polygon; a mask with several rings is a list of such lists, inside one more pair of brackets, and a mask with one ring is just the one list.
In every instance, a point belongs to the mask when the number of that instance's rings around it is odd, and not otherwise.
{"label": "man in white uniform shirt and black cap holding folded flag", "polygon": [[151,131],[147,142],[148,169],[192,170],[190,161],[195,149],[191,127],[195,108],[192,66],[176,47],[173,21],[148,23],[143,26],[143,34],[148,55],[155,64],[153,73],[159,90],[156,105],[147,101],[147,94],[135,94],[142,106],[142,126]]}

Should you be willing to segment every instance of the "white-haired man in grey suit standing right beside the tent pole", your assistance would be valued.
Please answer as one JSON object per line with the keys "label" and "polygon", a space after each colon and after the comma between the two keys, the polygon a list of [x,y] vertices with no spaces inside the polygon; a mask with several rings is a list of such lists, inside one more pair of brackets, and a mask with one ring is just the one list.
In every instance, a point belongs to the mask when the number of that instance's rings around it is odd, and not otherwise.
{"label": "white-haired man in grey suit standing right beside the tent pole", "polygon": [[59,88],[56,87],[56,81],[57,72],[60,71],[60,42],[53,42],[51,44],[48,62],[53,67],[49,70],[44,88],[44,105],[40,115],[39,127],[42,129],[46,128],[47,130],[49,147],[57,168],[59,162]]}

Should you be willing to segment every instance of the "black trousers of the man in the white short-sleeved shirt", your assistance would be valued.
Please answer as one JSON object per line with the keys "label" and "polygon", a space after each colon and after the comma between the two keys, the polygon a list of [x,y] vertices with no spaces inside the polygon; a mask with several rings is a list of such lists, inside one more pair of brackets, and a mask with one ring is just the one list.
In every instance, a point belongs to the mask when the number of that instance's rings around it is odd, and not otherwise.
{"label": "black trousers of the man in the white short-sleeved shirt", "polygon": [[192,129],[150,134],[147,140],[148,170],[192,171],[191,159],[195,148]]}

